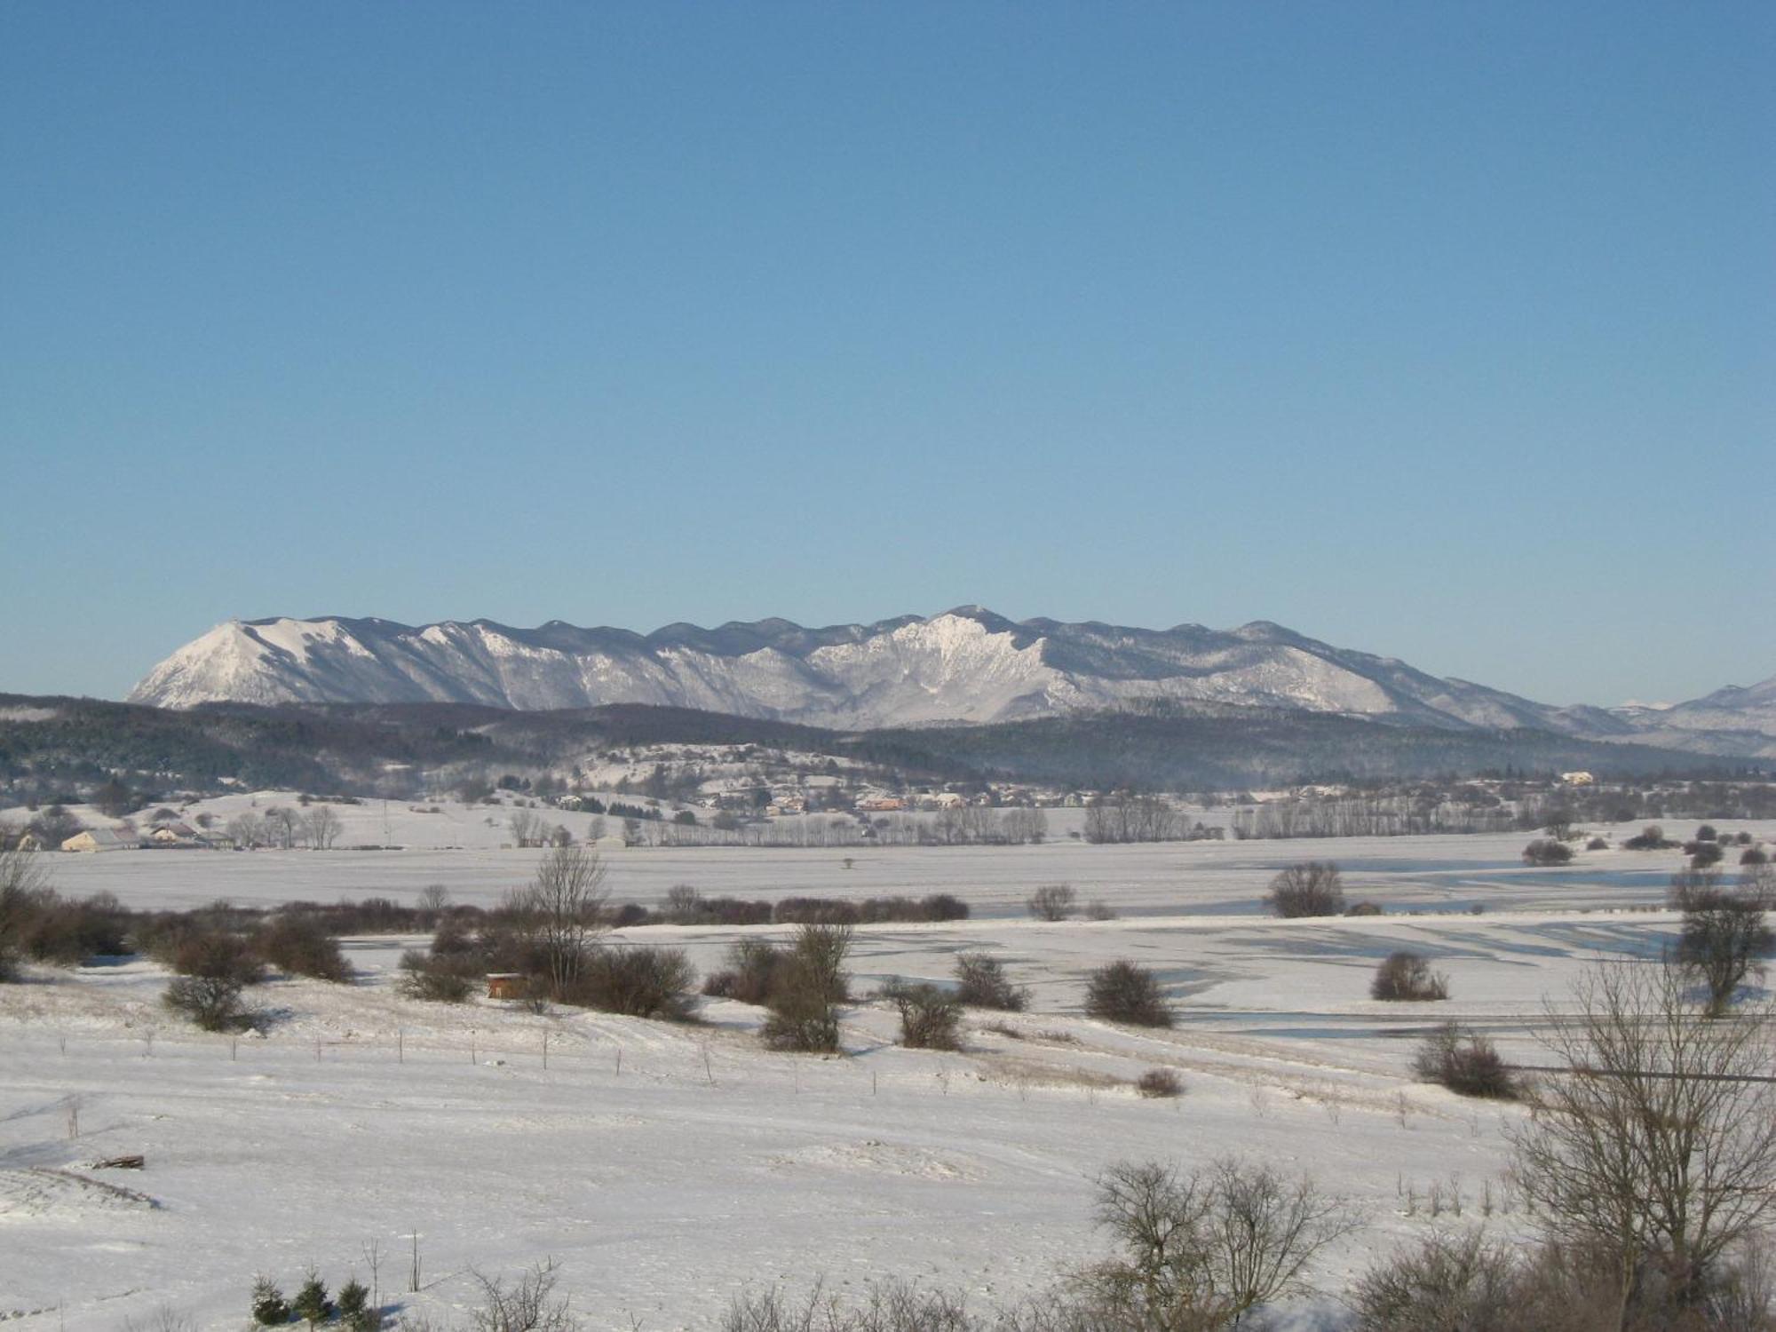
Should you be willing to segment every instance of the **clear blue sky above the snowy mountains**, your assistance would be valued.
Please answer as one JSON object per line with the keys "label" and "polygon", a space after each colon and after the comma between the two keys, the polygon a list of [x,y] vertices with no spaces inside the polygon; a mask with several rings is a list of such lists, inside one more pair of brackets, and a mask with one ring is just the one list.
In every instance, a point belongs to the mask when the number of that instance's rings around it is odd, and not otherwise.
{"label": "clear blue sky above the snowy mountains", "polygon": [[1776,673],[1776,5],[9,4],[0,691],[229,616]]}

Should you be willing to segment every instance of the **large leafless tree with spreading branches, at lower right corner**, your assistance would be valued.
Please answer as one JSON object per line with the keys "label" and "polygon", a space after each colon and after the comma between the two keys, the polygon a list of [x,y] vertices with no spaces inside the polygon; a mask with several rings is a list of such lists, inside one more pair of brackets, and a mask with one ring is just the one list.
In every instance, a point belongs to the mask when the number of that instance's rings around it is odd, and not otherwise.
{"label": "large leafless tree with spreading branches, at lower right corner", "polygon": [[1618,1325],[1696,1311],[1776,1209],[1769,1005],[1707,1021],[1680,968],[1634,961],[1597,966],[1575,1000],[1549,1011],[1568,1071],[1511,1131],[1517,1176],[1552,1238],[1609,1256]]}

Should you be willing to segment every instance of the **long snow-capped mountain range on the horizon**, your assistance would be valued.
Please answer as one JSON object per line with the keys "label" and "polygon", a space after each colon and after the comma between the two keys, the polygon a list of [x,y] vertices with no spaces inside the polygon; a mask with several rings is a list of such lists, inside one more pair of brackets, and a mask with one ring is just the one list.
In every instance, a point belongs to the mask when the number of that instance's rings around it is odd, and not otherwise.
{"label": "long snow-capped mountain range on the horizon", "polygon": [[867,625],[758,620],[675,623],[652,634],[559,620],[536,629],[490,620],[231,620],[160,662],[130,702],[517,710],[652,703],[860,730],[1243,705],[1776,757],[1776,678],[1664,709],[1554,707],[1268,622],[1156,630],[1012,622],[979,606]]}

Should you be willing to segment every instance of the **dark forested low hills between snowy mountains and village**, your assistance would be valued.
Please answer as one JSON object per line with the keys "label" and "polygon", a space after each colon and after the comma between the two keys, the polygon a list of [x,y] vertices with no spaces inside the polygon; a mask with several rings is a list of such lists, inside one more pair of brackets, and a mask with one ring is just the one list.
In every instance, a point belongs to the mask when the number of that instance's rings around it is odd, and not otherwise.
{"label": "dark forested low hills between snowy mountains and village", "polygon": [[1558,773],[1728,774],[1740,760],[1602,744],[1527,726],[1378,726],[1236,705],[1147,705],[984,726],[833,730],[638,703],[515,712],[476,703],[153,709],[0,696],[0,783],[53,797],[112,774],[139,787],[416,794],[462,776],[568,773],[606,749],[758,746],[909,781],[1209,790],[1346,778]]}

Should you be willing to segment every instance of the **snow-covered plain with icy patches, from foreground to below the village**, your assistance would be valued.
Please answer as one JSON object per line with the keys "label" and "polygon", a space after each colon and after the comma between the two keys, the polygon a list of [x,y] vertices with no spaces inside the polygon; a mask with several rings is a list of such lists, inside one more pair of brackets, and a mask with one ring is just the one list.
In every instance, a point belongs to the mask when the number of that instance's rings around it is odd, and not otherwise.
{"label": "snow-covered plain with icy patches, from foreground to below the village", "polygon": [[[758,1011],[728,1002],[698,1027],[408,1002],[389,980],[417,940],[352,941],[355,986],[256,991],[275,1021],[240,1041],[172,1021],[151,964],[37,971],[0,989],[0,1320],[110,1330],[167,1304],[201,1328],[238,1328],[256,1272],[286,1288],[309,1263],[334,1286],[353,1270],[369,1280],[368,1241],[385,1254],[385,1300],[440,1316],[467,1307],[471,1265],[551,1256],[593,1327],[709,1327],[746,1286],[845,1291],[886,1273],[993,1304],[1101,1252],[1092,1177],[1110,1162],[1222,1153],[1309,1170],[1366,1209],[1366,1229],[1318,1272],[1337,1289],[1426,1227],[1488,1208],[1494,1227],[1524,1224],[1499,1179],[1502,1128],[1520,1112],[1412,1083],[1410,1037],[1460,1018],[1534,1062],[1545,996],[1558,1002],[1597,955],[1652,955],[1669,936],[1673,918],[1646,908],[1675,852],[1526,870],[1524,840],[1060,840],[874,851],[849,870],[822,851],[606,858],[614,897],[643,902],[675,883],[741,897],[957,893],[973,920],[860,927],[851,961],[867,995],[892,975],[943,979],[964,947],[1003,957],[1032,984],[1032,1011],[1003,1019],[1016,1035],[971,1014],[955,1055],[895,1048],[874,1003],[847,1011],[847,1057],[812,1058],[762,1051]],[[131,906],[410,900],[428,883],[492,900],[535,854],[115,852],[59,856],[55,870],[64,892]],[[1350,899],[1391,915],[1259,916],[1275,868],[1311,856],[1337,860]],[[1055,881],[1122,918],[1023,918],[1023,897]],[[1471,902],[1487,913],[1467,915]],[[682,945],[707,970],[739,932],[622,938]],[[1449,973],[1451,1002],[1366,998],[1375,963],[1399,947]],[[1080,1016],[1083,973],[1114,957],[1162,971],[1176,1030]],[[1130,1080],[1156,1066],[1181,1074],[1181,1099],[1133,1094]],[[147,1169],[87,1169],[124,1153]],[[1460,1192],[1460,1220],[1447,1202],[1430,1215],[1433,1185]],[[423,1289],[408,1295],[414,1231]],[[1298,1327],[1337,1316],[1332,1300],[1291,1311]]]}

